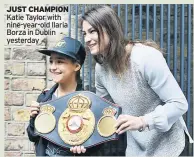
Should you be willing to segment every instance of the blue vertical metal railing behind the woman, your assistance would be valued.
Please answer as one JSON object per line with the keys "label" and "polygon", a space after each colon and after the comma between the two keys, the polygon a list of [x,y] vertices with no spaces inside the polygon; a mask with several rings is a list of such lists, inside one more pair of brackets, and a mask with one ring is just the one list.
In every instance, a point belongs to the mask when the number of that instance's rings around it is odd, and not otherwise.
{"label": "blue vertical metal railing behind the woman", "polygon": [[[74,37],[84,43],[83,36],[79,34],[78,15],[96,5],[69,5],[69,36],[75,30]],[[131,40],[156,41],[166,54],[166,61],[175,79],[184,92],[189,107],[186,116],[186,124],[192,135],[193,125],[193,104],[192,104],[192,72],[193,72],[193,29],[192,11],[193,6],[188,5],[141,5],[141,4],[112,4],[124,26],[125,37]],[[74,19],[72,17],[74,16]],[[72,25],[74,22],[74,28]],[[80,37],[80,38],[79,38]],[[88,68],[82,68],[82,79],[87,80],[89,90],[92,89],[92,56],[88,54],[85,62]],[[87,73],[88,72],[88,73]],[[85,73],[87,73],[85,75]],[[176,92],[176,91],[175,91]],[[193,154],[191,145],[187,148],[187,154]]]}

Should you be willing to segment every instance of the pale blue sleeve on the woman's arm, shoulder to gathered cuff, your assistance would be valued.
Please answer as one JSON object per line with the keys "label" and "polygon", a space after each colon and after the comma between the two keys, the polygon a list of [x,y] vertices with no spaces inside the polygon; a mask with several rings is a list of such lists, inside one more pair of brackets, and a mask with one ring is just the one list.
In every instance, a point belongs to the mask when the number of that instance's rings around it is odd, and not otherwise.
{"label": "pale blue sleeve on the woman's arm, shoulder to gathered cuff", "polygon": [[162,53],[151,47],[144,48],[143,53],[145,55],[140,64],[140,71],[164,102],[153,112],[144,115],[144,119],[150,130],[165,132],[187,111],[188,103]]}

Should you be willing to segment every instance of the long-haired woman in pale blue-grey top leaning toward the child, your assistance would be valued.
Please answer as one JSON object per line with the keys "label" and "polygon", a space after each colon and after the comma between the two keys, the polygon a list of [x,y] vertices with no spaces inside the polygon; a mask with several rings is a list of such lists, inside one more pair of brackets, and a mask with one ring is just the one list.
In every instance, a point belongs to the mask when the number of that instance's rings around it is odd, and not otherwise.
{"label": "long-haired woman in pale blue-grey top leaning toward the child", "polygon": [[115,127],[118,134],[127,132],[126,156],[179,156],[184,132],[189,136],[182,118],[188,103],[158,46],[126,41],[108,6],[89,10],[81,24],[97,61],[96,93],[122,107]]}

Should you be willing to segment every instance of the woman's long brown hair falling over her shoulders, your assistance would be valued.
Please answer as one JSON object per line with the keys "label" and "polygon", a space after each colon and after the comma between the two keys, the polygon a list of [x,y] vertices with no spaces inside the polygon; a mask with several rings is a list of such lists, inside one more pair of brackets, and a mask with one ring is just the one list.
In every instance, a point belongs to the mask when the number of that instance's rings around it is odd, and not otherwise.
{"label": "woman's long brown hair falling over her shoulders", "polygon": [[[132,41],[125,39],[121,21],[116,12],[108,6],[99,6],[87,11],[81,19],[87,21],[98,33],[98,41],[101,48],[103,41],[103,32],[105,31],[109,37],[108,48],[106,53],[100,53],[94,56],[95,60],[102,64],[108,63],[110,68],[116,74],[122,74],[129,66],[129,56],[132,47],[135,43],[142,43],[144,45],[157,47],[157,44],[151,44],[149,41]],[[126,46],[130,45],[128,49]],[[158,47],[157,47],[158,48]]]}

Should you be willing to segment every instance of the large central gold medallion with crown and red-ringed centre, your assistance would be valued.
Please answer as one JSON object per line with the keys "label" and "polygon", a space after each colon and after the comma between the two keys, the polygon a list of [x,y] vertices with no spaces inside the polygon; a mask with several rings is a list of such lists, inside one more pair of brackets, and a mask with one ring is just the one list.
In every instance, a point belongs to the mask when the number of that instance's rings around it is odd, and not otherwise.
{"label": "large central gold medallion with crown and red-ringed centre", "polygon": [[92,135],[95,117],[90,107],[90,99],[81,94],[68,101],[68,108],[61,114],[58,122],[58,133],[65,143],[80,145]]}

